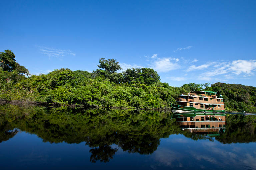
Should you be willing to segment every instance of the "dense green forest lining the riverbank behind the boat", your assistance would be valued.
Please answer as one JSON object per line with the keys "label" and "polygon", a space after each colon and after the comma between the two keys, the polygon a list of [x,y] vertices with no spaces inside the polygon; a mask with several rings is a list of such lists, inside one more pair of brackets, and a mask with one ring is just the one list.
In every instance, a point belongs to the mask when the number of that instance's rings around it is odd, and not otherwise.
{"label": "dense green forest lining the riverbank behind the boat", "polygon": [[[117,71],[119,70],[120,73]],[[99,59],[92,73],[68,68],[30,75],[11,50],[0,53],[0,103],[85,108],[170,110],[181,93],[216,91],[226,111],[256,113],[256,88],[241,84],[184,84],[160,82],[152,68],[123,70],[115,59]]]}

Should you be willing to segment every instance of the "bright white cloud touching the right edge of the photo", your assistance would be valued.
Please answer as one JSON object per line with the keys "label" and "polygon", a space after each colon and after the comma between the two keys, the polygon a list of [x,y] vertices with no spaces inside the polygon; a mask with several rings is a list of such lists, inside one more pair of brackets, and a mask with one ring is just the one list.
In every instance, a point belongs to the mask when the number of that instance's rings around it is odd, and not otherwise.
{"label": "bright white cloud touching the right edge of the photo", "polygon": [[239,75],[241,73],[251,74],[256,68],[256,60],[235,60],[232,61],[229,70],[234,71],[233,73]]}

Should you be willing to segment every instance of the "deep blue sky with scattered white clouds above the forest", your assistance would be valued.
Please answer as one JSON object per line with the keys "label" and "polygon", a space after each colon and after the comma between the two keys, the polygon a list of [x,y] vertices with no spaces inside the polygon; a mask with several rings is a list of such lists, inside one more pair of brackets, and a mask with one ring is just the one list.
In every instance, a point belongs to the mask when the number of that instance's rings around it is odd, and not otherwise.
{"label": "deep blue sky with scattered white clouds above the forest", "polygon": [[256,1],[1,1],[0,51],[31,74],[155,69],[172,86],[256,86]]}

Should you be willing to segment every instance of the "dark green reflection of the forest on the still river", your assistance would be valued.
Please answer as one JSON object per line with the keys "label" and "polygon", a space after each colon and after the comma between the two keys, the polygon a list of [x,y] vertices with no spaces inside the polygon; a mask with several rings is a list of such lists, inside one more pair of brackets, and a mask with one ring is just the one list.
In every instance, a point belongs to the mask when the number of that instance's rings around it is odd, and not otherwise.
{"label": "dark green reflection of the forest on the still river", "polygon": [[[117,152],[112,144],[130,153],[152,154],[159,146],[160,138],[171,134],[180,133],[193,140],[214,139],[182,130],[176,120],[171,119],[171,113],[157,111],[0,105],[0,113],[0,143],[13,137],[18,129],[36,134],[44,142],[85,142],[91,147],[91,162],[112,159]],[[255,141],[255,118],[238,117],[227,116],[226,132],[215,139],[223,143]],[[247,137],[243,138],[243,134]]]}

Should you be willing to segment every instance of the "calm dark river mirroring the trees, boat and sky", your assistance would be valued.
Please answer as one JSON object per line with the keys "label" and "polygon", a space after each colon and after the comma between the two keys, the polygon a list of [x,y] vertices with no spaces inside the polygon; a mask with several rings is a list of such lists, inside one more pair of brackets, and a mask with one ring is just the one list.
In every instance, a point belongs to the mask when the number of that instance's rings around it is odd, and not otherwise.
{"label": "calm dark river mirroring the trees, boat and sky", "polygon": [[0,105],[0,169],[256,169],[256,116]]}

